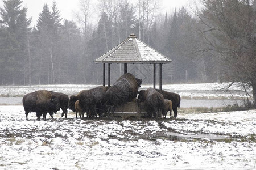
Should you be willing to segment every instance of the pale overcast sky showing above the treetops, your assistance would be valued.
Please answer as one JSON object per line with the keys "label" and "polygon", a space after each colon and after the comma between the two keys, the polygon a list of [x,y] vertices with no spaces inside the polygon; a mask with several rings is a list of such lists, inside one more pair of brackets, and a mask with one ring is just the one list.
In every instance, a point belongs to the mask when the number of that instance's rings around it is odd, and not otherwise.
{"label": "pale overcast sky showing above the treetops", "polygon": [[[51,8],[53,1],[56,2],[57,8],[61,11],[62,18],[69,20],[75,19],[74,12],[79,10],[79,0],[23,0],[23,6],[28,8],[28,17],[32,16],[32,25],[36,24],[36,20],[38,20],[38,16],[40,12],[42,12],[44,4],[47,3],[49,8]],[[97,2],[97,0],[92,1],[94,3]],[[161,6],[163,13],[171,13],[175,8],[179,9],[182,6],[188,7],[189,2],[192,2],[192,0],[160,0],[160,2],[162,3]],[[2,0],[0,1],[0,5],[1,7],[3,6]],[[95,22],[97,23],[98,21],[95,20]]]}

